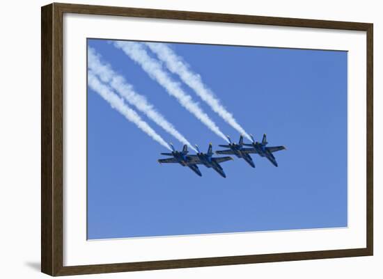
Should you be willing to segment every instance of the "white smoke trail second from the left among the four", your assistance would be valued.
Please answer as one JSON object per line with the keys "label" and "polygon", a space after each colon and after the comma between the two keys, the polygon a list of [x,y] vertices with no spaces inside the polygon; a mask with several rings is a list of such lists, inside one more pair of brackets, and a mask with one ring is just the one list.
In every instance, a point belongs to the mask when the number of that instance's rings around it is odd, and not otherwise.
{"label": "white smoke trail second from the left among the four", "polygon": [[95,49],[88,47],[88,68],[97,74],[98,77],[105,83],[109,83],[111,88],[116,90],[116,92],[132,106],[135,106],[136,109],[145,113],[150,120],[153,120],[157,125],[162,127],[169,134],[174,136],[183,144],[186,144],[192,150],[196,151],[196,148],[187,141],[185,136],[182,136],[180,132],[173,127],[173,125],[164,118],[164,116],[155,110],[152,104],[148,102],[145,96],[140,95],[134,91],[133,86],[125,81],[125,79],[116,74],[110,65],[103,63],[100,58],[100,54],[97,54]]}

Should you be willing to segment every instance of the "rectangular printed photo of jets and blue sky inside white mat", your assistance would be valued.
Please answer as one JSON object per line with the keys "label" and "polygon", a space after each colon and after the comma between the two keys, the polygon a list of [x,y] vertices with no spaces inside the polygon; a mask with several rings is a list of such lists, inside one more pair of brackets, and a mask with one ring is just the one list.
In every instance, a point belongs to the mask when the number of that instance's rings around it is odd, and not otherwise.
{"label": "rectangular printed photo of jets and blue sky inside white mat", "polygon": [[87,53],[88,239],[347,227],[347,51]]}

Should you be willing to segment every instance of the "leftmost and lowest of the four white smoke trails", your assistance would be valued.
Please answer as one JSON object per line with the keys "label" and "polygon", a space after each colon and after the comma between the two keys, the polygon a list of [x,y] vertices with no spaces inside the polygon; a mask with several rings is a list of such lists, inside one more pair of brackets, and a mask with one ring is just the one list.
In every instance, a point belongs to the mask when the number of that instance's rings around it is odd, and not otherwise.
{"label": "leftmost and lowest of the four white smoke trails", "polygon": [[116,109],[116,111],[124,115],[127,120],[133,122],[144,133],[148,134],[148,136],[153,138],[153,140],[157,141],[157,143],[171,150],[166,141],[164,141],[164,139],[159,136],[159,134],[157,134],[155,130],[148,125],[148,123],[143,121],[136,111],[130,109],[130,107],[125,104],[123,99],[118,97],[116,93],[113,93],[109,86],[104,85],[91,70],[88,70],[88,86],[97,92],[105,101],[109,102],[113,109]]}

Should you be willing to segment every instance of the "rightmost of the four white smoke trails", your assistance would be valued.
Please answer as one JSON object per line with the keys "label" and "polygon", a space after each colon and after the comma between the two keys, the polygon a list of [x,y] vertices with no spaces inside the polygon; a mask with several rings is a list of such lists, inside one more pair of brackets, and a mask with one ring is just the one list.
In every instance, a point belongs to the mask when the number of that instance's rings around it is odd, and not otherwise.
{"label": "rightmost of the four white smoke trails", "polygon": [[203,99],[206,104],[212,108],[212,111],[217,113],[224,119],[228,125],[236,129],[240,134],[244,135],[249,141],[251,137],[246,131],[238,124],[233,114],[229,113],[221,104],[219,99],[212,93],[212,91],[203,83],[201,76],[190,70],[189,65],[184,62],[181,56],[175,54],[173,49],[168,45],[157,42],[145,43],[151,51],[153,51],[159,60],[163,61],[166,67],[173,74],[177,74],[180,79],[192,88],[196,94]]}

